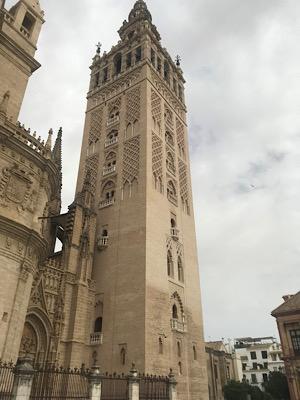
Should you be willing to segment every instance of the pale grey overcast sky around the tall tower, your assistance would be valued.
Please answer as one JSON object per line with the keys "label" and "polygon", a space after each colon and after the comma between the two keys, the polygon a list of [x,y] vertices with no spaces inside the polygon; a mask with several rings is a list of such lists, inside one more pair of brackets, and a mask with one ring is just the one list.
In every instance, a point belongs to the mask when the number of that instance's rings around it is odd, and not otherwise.
{"label": "pale grey overcast sky around the tall tower", "polygon": [[[44,137],[63,126],[64,207],[75,190],[95,44],[117,42],[133,3],[41,0],[42,68],[20,120]],[[300,2],[147,4],[187,80],[206,339],[277,335],[270,312],[300,289]]]}

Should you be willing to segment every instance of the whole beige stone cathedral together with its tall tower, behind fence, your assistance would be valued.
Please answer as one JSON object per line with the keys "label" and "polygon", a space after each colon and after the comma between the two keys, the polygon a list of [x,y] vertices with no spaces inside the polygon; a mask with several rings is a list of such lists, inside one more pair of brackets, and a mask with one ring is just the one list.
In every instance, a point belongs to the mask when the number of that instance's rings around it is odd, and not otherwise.
{"label": "whole beige stone cathedral together with its tall tower, behind fence", "polygon": [[[0,0],[0,358],[177,374],[208,399],[184,78],[138,0],[91,65],[74,202],[61,207],[59,130],[18,115],[44,22]],[[55,251],[57,240],[62,250]]]}

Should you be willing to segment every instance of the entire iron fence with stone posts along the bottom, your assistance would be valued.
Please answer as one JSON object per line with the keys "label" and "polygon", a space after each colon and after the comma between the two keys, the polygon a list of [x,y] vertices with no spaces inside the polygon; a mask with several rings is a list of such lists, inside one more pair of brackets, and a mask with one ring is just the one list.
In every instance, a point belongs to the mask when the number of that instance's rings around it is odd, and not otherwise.
{"label": "entire iron fence with stone posts along the bottom", "polygon": [[170,375],[105,375],[98,367],[42,367],[28,359],[16,366],[0,361],[0,400],[176,400],[176,381]]}

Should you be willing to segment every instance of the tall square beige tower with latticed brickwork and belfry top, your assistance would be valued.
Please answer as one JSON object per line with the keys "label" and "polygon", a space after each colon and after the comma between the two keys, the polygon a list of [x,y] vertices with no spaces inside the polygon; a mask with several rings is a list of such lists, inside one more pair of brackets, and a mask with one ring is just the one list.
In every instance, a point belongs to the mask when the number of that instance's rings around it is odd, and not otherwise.
{"label": "tall square beige tower with latticed brickwork and belfry top", "polygon": [[172,367],[179,399],[204,400],[185,81],[144,1],[119,35],[91,66],[77,181],[89,175],[96,206],[91,353],[108,371]]}

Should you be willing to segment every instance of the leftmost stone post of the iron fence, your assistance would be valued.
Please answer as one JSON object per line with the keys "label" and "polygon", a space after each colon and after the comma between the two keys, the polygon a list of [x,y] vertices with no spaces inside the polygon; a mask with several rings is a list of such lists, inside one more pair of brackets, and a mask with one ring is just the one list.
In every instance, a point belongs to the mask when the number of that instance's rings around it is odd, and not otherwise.
{"label": "leftmost stone post of the iron fence", "polygon": [[14,374],[12,400],[29,400],[34,375],[31,359],[19,359]]}

